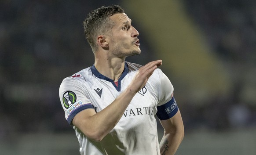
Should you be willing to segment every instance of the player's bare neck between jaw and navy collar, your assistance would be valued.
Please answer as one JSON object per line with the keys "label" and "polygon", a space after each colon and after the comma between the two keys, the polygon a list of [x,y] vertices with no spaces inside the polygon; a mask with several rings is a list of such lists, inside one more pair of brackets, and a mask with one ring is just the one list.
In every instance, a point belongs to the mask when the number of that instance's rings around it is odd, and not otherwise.
{"label": "player's bare neck between jaw and navy collar", "polygon": [[[99,55],[99,54],[98,54]],[[125,58],[108,58],[103,55],[96,56],[95,54],[95,68],[104,76],[118,81],[122,72],[124,71]]]}

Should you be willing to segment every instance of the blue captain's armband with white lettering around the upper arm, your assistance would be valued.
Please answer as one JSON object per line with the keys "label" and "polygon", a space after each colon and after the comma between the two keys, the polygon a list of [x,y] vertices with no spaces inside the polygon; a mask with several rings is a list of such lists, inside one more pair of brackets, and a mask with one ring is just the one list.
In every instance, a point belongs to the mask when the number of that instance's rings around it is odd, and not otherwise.
{"label": "blue captain's armband with white lettering around the upper arm", "polygon": [[160,120],[170,119],[178,112],[178,110],[177,103],[174,97],[172,97],[172,100],[164,105],[157,106],[157,117]]}

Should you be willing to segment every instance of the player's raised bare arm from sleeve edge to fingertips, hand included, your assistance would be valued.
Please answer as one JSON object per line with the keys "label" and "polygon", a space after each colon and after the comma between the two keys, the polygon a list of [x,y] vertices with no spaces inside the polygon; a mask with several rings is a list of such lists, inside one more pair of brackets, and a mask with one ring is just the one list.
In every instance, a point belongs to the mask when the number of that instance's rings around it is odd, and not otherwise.
{"label": "player's raised bare arm from sleeve edge to fingertips, hand included", "polygon": [[79,112],[73,118],[73,125],[92,140],[101,141],[116,126],[132,98],[145,86],[154,70],[161,64],[161,60],[151,61],[139,68],[129,86],[110,105],[98,113],[93,109]]}

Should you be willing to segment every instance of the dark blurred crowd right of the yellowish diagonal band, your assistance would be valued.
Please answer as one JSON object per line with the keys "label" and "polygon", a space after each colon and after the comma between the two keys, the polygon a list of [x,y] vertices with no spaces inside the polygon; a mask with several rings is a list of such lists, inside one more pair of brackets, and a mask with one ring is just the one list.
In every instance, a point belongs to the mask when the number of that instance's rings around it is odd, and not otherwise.
{"label": "dark blurred crowd right of the yellowish diagonal band", "polygon": [[192,115],[186,115],[185,121],[191,127],[213,130],[255,127],[256,1],[184,0],[184,4],[233,83],[228,96],[210,105],[187,107]]}

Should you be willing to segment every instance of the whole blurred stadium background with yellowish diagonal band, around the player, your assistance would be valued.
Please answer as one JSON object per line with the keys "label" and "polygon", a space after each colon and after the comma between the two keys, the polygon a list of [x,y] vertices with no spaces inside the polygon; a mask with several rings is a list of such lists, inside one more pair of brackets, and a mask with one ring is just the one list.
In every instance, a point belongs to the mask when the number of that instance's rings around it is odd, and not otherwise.
{"label": "whole blurred stadium background with yellowish diagonal band, around the player", "polygon": [[82,22],[112,4],[140,32],[142,54],[127,60],[162,59],[175,87],[176,154],[256,155],[254,0],[0,0],[0,154],[79,155],[59,85],[93,64]]}

